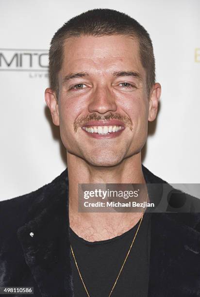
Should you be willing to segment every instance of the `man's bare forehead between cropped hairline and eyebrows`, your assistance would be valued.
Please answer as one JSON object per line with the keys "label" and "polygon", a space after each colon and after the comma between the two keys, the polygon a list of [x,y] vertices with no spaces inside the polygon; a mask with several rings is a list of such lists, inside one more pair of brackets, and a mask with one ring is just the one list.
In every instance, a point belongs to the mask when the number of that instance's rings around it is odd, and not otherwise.
{"label": "man's bare forehead between cropped hairline and eyebrows", "polygon": [[133,70],[145,75],[138,41],[132,37],[111,35],[68,38],[63,51],[63,75],[80,71],[109,74],[117,70]]}

